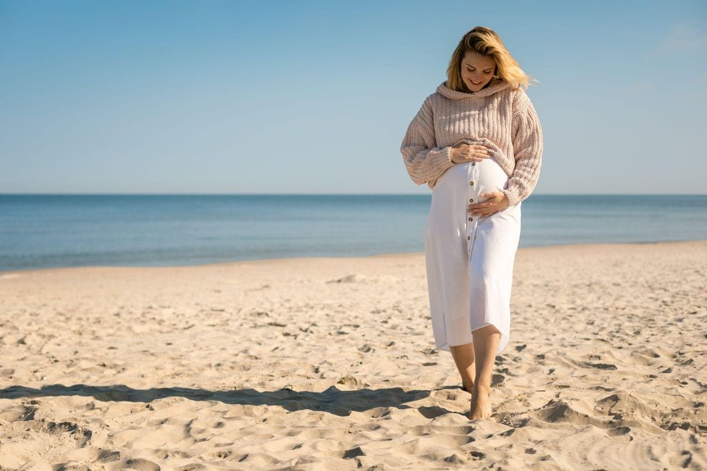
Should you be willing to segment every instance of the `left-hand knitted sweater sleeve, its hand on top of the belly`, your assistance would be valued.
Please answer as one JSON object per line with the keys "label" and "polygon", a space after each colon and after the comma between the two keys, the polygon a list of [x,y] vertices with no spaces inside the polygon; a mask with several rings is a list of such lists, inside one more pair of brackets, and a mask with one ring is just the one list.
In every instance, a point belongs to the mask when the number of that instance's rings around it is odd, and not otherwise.
{"label": "left-hand knitted sweater sleeve, its hand on top of the belly", "polygon": [[429,186],[455,165],[450,156],[452,147],[437,147],[431,96],[412,119],[400,145],[407,173],[417,185],[427,182]]}

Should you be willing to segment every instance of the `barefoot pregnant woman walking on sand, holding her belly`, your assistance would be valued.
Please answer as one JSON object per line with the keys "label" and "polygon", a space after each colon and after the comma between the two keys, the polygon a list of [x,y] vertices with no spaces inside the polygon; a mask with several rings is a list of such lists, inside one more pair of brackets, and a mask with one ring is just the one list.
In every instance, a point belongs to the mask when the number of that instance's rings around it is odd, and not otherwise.
{"label": "barefoot pregnant woman walking on sand, holding her belly", "polygon": [[460,41],[448,80],[426,97],[400,151],[432,203],[425,261],[436,347],[451,352],[472,394],[469,419],[491,417],[491,372],[510,337],[521,201],[540,174],[540,121],[527,76],[481,26]]}

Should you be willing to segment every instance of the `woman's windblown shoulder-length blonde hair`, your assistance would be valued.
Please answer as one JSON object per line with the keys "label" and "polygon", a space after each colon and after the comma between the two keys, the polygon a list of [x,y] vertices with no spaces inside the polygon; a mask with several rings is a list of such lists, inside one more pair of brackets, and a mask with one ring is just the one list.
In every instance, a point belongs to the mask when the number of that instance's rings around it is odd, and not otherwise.
{"label": "woman's windblown shoulder-length blonde hair", "polygon": [[447,87],[452,90],[466,93],[470,91],[462,80],[461,73],[462,59],[464,59],[464,54],[468,51],[475,51],[484,56],[493,57],[496,62],[496,73],[493,74],[493,77],[511,83],[513,89],[517,89],[522,85],[527,90],[530,80],[537,82],[522,71],[518,61],[510,55],[496,31],[491,30],[491,28],[484,28],[484,26],[477,26],[462,37],[457,49],[452,54],[452,59],[449,61]]}

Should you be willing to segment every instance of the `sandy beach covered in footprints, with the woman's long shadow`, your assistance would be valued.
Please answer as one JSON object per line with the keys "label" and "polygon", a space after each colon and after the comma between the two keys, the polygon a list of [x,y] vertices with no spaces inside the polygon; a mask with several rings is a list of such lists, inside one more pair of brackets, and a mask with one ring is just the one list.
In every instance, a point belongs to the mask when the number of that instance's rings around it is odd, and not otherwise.
{"label": "sandy beach covered in footprints, with the woman's long shadow", "polygon": [[0,272],[0,468],[707,469],[707,241],[519,249],[490,419],[421,253]]}

